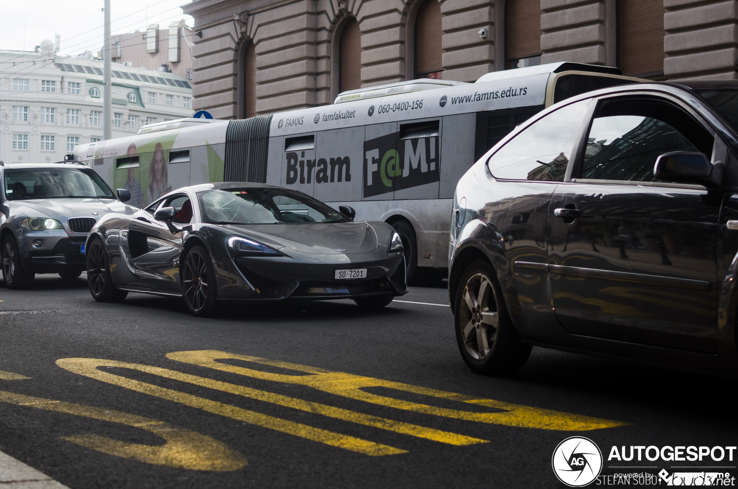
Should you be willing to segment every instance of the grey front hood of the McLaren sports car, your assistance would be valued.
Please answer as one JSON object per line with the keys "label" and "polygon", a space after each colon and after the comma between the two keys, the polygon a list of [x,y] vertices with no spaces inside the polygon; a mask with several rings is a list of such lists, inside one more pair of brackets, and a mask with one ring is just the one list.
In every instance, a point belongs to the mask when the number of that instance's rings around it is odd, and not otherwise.
{"label": "grey front hood of the McLaren sports car", "polygon": [[287,247],[300,253],[350,254],[376,249],[376,234],[365,222],[228,225],[269,246]]}

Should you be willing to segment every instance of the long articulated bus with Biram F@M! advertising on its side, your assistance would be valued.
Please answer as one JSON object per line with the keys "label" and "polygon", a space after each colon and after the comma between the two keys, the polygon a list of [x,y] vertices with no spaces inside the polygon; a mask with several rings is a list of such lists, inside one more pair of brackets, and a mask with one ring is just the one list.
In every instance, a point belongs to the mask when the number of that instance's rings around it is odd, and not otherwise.
{"label": "long articulated bus with Biram F@M! advertising on its side", "polygon": [[409,278],[418,271],[440,279],[456,183],[478,158],[559,100],[640,81],[575,63],[492,72],[475,83],[413,80],[343,92],[330,106],[151,124],[135,136],[77,146],[74,159],[131,191],[137,207],[222,181],[282,185],[334,208],[349,205],[357,221],[396,228]]}

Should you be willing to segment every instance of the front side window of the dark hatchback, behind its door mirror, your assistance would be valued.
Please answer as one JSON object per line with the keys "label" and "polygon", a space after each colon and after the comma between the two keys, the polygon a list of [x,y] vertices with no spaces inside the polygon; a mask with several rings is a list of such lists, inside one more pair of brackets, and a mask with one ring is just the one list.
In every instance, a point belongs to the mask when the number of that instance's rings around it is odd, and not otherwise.
{"label": "front side window of the dark hatchback, behind its door mirror", "polygon": [[712,137],[689,114],[655,100],[614,100],[598,109],[587,134],[582,178],[652,182],[660,154],[702,151]]}

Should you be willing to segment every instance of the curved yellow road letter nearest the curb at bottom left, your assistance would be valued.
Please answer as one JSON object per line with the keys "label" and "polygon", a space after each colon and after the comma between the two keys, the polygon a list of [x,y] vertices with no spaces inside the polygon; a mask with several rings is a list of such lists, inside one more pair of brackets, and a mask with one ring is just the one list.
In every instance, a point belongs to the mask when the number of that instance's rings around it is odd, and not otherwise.
{"label": "curved yellow road letter nearest the curb at bottom left", "polygon": [[166,441],[164,445],[140,445],[111,440],[97,434],[61,437],[62,440],[92,448],[105,454],[121,456],[125,459],[192,471],[218,472],[237,471],[247,463],[244,455],[232,450],[224,443],[218,442],[218,440],[213,440],[213,438],[206,437],[196,431],[174,428],[168,423],[151,420],[148,417],[137,416],[136,414],[83,406],[82,404],[63,403],[57,400],[25,396],[6,391],[0,391],[0,402],[141,428],[162,437]]}

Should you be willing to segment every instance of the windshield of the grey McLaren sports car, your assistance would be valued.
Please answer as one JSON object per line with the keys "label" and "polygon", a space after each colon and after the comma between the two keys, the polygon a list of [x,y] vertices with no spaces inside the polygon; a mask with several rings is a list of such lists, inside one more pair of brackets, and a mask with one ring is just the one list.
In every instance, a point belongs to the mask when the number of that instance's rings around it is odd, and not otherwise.
{"label": "windshield of the grey McLaren sports car", "polygon": [[204,222],[213,224],[299,224],[347,222],[311,196],[285,188],[223,188],[198,192]]}

